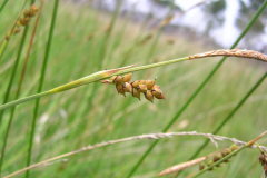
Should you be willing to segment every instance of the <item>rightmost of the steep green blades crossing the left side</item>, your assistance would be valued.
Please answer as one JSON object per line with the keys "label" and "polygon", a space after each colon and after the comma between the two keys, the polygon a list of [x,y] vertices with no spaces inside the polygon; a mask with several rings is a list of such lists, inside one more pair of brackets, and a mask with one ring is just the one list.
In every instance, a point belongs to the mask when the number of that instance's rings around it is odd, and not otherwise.
{"label": "rightmost of the steep green blades crossing the left side", "polygon": [[[52,42],[55,23],[56,23],[56,19],[57,19],[58,4],[59,4],[59,0],[56,0],[55,6],[53,6],[52,20],[51,20],[44,59],[43,59],[43,63],[42,63],[41,78],[40,78],[40,82],[39,82],[39,87],[38,87],[38,92],[41,92],[41,90],[42,90],[42,85],[43,85],[43,80],[44,80],[44,76],[46,76],[47,62],[48,62],[48,57],[49,57],[51,42]],[[32,125],[31,125],[31,135],[30,135],[29,150],[28,150],[27,167],[30,165],[30,160],[31,160],[31,150],[32,150],[32,142],[33,142],[33,136],[34,136],[34,130],[36,130],[36,120],[37,120],[38,109],[39,109],[39,100],[40,100],[39,98],[36,100],[36,108],[33,111],[33,120],[32,120]],[[29,177],[29,174],[30,174],[30,171],[28,170],[26,172],[27,178]]]}

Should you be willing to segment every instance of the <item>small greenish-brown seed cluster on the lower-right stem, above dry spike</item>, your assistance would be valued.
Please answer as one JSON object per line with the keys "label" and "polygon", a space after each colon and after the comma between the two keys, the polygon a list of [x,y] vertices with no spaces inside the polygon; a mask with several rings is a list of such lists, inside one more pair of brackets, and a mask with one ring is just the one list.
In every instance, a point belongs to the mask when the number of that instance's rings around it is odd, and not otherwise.
{"label": "small greenish-brown seed cluster on the lower-right stem, above dry spike", "polygon": [[[207,166],[211,166],[215,162],[217,162],[218,160],[222,159],[224,157],[226,157],[227,155],[229,155],[230,152],[235,151],[236,149],[238,149],[236,147],[236,145],[233,145],[230,148],[224,149],[220,155],[215,155],[212,160],[209,160]],[[226,159],[224,162],[229,162],[229,159]],[[220,167],[220,165],[217,165],[216,167]],[[200,162],[199,164],[199,170],[202,170],[205,168],[205,162]],[[214,170],[214,168],[210,168],[208,170]]]}

